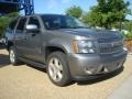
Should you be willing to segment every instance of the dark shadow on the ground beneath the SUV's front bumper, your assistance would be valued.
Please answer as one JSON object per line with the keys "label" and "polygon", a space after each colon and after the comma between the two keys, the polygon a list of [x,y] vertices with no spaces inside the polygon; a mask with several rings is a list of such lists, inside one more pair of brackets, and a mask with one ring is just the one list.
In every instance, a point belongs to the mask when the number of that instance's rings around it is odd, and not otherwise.
{"label": "dark shadow on the ground beneath the SUV's front bumper", "polygon": [[110,74],[106,74],[99,78],[85,80],[85,81],[78,81],[77,85],[79,85],[79,86],[86,85],[87,86],[87,85],[98,84],[100,81],[103,81],[103,80],[107,80],[107,79],[110,79],[110,78],[118,76],[119,74],[121,74],[123,72],[123,69],[124,69],[124,66],[122,66],[120,69],[118,69],[116,72],[112,72]]}

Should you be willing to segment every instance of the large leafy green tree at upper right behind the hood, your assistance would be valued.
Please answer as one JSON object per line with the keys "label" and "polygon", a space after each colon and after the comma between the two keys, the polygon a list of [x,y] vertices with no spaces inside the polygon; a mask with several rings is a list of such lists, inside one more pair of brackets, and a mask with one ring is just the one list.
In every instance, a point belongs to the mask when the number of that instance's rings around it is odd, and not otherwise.
{"label": "large leafy green tree at upper right behind the hood", "polygon": [[[127,14],[129,2],[123,0],[97,0],[98,4],[94,6],[88,13],[82,16],[82,21],[89,22],[92,26],[102,26],[111,29],[116,22],[123,22]],[[87,19],[89,16],[89,19]],[[86,20],[87,19],[87,20]]]}

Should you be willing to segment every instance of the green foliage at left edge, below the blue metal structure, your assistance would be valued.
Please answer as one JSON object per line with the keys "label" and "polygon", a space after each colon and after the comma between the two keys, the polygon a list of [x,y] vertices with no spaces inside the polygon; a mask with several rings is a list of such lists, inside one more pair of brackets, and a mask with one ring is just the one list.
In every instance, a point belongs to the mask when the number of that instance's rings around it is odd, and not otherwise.
{"label": "green foliage at left edge, below the blue metal structure", "polygon": [[0,36],[4,33],[7,26],[13,20],[14,18],[19,16],[20,14],[18,12],[13,12],[7,15],[0,16]]}

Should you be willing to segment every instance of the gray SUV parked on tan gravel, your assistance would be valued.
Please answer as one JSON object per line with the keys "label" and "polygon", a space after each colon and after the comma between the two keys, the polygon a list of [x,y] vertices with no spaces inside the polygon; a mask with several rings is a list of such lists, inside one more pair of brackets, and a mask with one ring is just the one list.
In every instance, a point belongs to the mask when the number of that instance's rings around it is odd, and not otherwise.
{"label": "gray SUV parked on tan gravel", "polygon": [[117,72],[127,58],[119,32],[89,29],[61,14],[18,18],[7,29],[6,38],[12,65],[21,61],[46,68],[57,86]]}

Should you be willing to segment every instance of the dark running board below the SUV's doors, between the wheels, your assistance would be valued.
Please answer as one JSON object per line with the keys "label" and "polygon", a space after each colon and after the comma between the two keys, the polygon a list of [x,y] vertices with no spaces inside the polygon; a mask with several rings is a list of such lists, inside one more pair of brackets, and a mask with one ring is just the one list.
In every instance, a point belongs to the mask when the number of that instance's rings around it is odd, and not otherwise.
{"label": "dark running board below the SUV's doors, between the wheels", "polygon": [[30,64],[30,65],[33,65],[35,67],[40,67],[40,68],[46,68],[46,65],[45,64],[41,64],[41,63],[37,63],[37,62],[34,62],[34,61],[30,61],[30,59],[26,59],[26,58],[23,58],[23,57],[18,57],[20,61],[26,63],[26,64]]}

